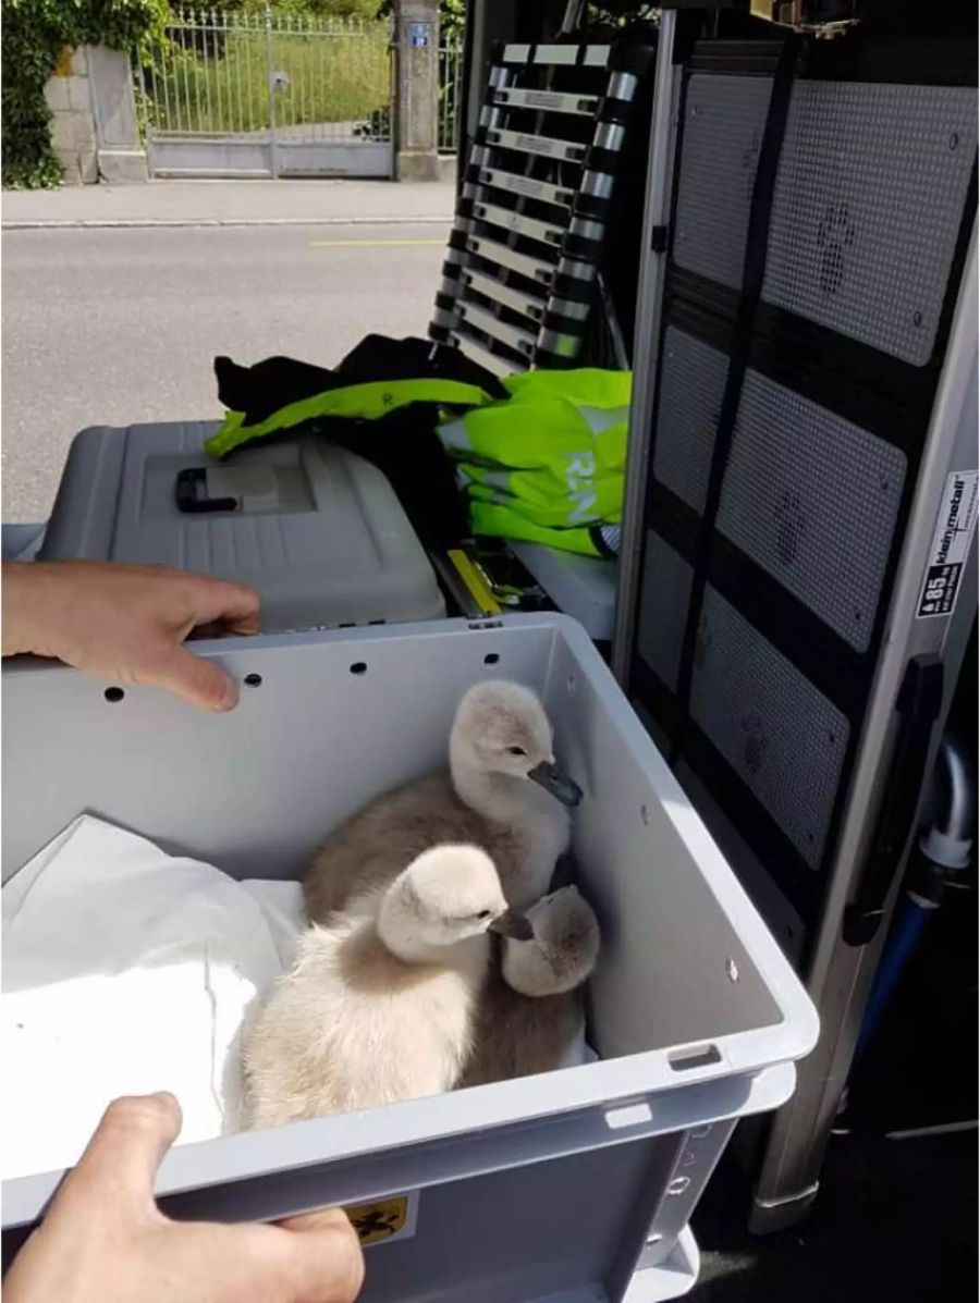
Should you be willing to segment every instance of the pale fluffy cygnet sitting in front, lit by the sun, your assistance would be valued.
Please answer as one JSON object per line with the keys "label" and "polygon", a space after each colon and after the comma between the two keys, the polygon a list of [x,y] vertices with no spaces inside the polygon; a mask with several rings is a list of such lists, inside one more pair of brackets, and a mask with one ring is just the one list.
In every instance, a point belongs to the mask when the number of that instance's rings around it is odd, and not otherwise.
{"label": "pale fluffy cygnet sitting in front, lit by the sun", "polygon": [[245,1029],[245,1124],[451,1089],[473,1042],[487,929],[510,917],[490,857],[439,846],[311,926]]}

